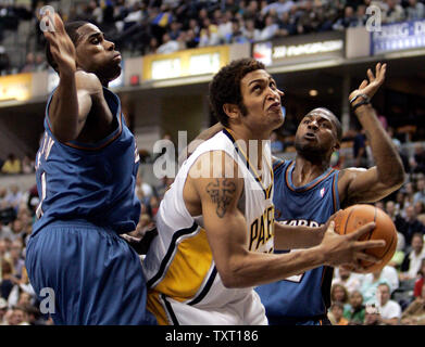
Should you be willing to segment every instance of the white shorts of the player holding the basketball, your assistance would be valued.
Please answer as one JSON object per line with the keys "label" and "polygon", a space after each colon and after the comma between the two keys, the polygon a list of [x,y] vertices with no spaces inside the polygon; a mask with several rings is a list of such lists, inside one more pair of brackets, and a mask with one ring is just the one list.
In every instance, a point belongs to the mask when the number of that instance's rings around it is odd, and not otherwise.
{"label": "white shorts of the player holding the basketball", "polygon": [[165,325],[267,325],[264,306],[254,291],[220,308],[196,307],[151,292],[149,309],[159,324]]}

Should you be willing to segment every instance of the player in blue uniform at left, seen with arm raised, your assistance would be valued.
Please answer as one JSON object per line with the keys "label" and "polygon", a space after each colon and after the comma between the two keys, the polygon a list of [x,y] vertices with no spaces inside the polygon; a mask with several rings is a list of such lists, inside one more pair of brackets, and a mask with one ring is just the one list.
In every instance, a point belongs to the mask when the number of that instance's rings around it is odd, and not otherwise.
{"label": "player in blue uniform at left, seen with arm raised", "polygon": [[60,75],[37,153],[38,220],[26,267],[37,294],[54,291],[55,324],[150,324],[138,255],[120,237],[136,229],[139,165],[120,99],[107,87],[121,55],[92,24],[43,17],[47,56]]}

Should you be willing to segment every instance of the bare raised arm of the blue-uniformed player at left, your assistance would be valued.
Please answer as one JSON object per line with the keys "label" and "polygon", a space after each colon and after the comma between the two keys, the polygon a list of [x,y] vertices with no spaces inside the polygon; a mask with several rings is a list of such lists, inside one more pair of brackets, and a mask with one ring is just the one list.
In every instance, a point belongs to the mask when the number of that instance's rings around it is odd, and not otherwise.
{"label": "bare raised arm of the blue-uniformed player at left", "polygon": [[80,133],[91,110],[92,98],[102,93],[102,85],[93,74],[77,72],[75,47],[66,34],[63,22],[58,14],[45,15],[47,26],[54,31],[45,31],[50,52],[58,65],[60,81],[54,91],[49,117],[53,134],[62,142],[75,140]]}

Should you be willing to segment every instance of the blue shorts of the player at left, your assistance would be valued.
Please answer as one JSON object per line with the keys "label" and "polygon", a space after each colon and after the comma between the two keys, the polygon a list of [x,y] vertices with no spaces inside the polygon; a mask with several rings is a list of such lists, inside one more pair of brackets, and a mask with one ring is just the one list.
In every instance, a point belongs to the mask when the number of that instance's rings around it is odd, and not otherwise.
{"label": "blue shorts of the player at left", "polygon": [[157,324],[146,309],[140,259],[113,230],[86,221],[52,222],[32,235],[25,262],[41,301],[47,298],[41,290],[53,290],[55,324]]}

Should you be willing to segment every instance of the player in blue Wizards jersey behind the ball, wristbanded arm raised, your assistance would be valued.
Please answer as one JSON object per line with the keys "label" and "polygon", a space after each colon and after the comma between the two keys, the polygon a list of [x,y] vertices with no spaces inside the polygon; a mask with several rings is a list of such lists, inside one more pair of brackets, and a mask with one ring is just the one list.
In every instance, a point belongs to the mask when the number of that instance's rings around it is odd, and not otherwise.
{"label": "player in blue Wizards jersey behind the ball, wristbanded arm raised", "polygon": [[[332,169],[330,155],[340,146],[341,125],[326,108],[311,111],[296,133],[296,159],[274,162],[274,204],[278,222],[317,227],[339,208],[379,201],[401,187],[404,181],[401,158],[370,103],[384,82],[386,64],[377,64],[376,77],[368,70],[368,81],[364,80],[349,97],[366,130],[376,166],[367,170]],[[322,266],[258,287],[270,324],[329,323],[326,313],[332,279],[333,268]]]}

